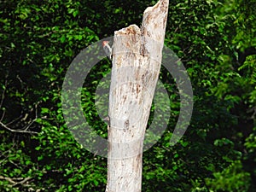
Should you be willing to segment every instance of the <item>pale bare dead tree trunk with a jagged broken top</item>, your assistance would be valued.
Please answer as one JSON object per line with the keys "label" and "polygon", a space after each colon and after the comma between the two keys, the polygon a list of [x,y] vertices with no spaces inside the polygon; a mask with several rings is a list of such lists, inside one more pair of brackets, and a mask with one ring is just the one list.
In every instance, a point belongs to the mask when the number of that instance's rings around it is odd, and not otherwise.
{"label": "pale bare dead tree trunk with a jagged broken top", "polygon": [[140,192],[143,139],[157,83],[168,0],[145,10],[143,24],[114,32],[106,192]]}

